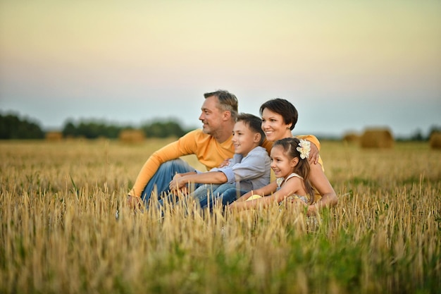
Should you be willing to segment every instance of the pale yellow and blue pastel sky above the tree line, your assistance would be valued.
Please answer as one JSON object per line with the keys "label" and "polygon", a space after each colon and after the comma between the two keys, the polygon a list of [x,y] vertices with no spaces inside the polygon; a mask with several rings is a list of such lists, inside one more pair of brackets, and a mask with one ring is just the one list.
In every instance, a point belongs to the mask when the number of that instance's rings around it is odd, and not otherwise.
{"label": "pale yellow and blue pastel sky above the tree line", "polygon": [[198,128],[204,92],[299,111],[294,133],[441,126],[441,1],[0,0],[0,109]]}

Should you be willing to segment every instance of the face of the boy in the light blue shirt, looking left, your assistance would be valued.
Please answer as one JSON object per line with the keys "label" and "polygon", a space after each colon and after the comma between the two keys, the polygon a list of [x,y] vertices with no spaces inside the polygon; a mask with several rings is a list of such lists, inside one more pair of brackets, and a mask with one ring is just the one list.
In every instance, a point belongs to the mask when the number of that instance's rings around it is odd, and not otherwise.
{"label": "face of the boy in the light blue shirt, looking left", "polygon": [[232,145],[235,147],[235,154],[242,154],[246,157],[254,147],[259,146],[259,135],[248,128],[243,121],[235,123],[232,130]]}

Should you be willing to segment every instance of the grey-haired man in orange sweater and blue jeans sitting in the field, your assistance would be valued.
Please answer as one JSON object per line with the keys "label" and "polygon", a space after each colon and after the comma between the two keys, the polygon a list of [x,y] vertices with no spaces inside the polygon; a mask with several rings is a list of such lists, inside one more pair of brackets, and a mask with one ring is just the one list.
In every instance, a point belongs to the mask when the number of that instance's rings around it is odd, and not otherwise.
{"label": "grey-haired man in orange sweater and blue jeans sitting in the field", "polygon": [[237,117],[237,98],[225,90],[205,93],[204,97],[199,116],[202,130],[190,131],[147,159],[128,193],[129,204],[139,204],[140,199],[148,204],[155,188],[160,198],[163,192],[168,191],[175,173],[194,171],[190,164],[179,159],[181,156],[195,154],[207,170],[232,158],[234,147],[231,138]]}

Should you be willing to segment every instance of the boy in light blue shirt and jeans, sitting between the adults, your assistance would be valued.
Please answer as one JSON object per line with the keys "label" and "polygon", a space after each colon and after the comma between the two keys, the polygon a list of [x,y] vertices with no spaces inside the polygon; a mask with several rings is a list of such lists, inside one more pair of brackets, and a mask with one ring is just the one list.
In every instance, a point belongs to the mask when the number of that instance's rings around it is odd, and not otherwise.
{"label": "boy in light blue shirt and jeans, sitting between the adults", "polygon": [[[266,149],[261,147],[265,133],[261,129],[261,118],[252,114],[239,114],[232,131],[232,144],[235,155],[228,166],[214,168],[205,173],[192,171],[178,173],[170,181],[170,190],[187,188],[188,183],[204,184],[190,194],[201,207],[222,197],[226,188],[254,190],[270,182],[270,158]],[[224,184],[224,185],[222,185]],[[235,199],[222,199],[223,204]]]}

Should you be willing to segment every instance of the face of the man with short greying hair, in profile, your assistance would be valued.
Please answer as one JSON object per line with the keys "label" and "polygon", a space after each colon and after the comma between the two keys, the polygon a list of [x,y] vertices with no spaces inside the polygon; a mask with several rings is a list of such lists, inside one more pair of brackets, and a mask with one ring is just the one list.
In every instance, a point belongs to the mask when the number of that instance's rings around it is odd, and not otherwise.
{"label": "face of the man with short greying hair, in profile", "polygon": [[218,109],[218,97],[207,97],[201,107],[201,115],[199,121],[203,123],[202,130],[204,133],[213,135],[222,127],[223,111]]}

